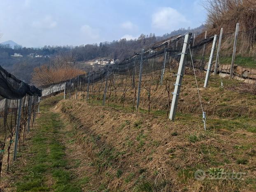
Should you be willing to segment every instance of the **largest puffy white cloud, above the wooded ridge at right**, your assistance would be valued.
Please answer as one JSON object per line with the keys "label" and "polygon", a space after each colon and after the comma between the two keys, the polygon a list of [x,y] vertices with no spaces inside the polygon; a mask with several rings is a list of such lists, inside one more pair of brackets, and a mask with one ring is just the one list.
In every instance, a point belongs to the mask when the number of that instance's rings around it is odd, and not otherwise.
{"label": "largest puffy white cloud, above the wooded ridge at right", "polygon": [[189,23],[184,15],[171,7],[162,7],[152,15],[152,27],[160,30],[188,27]]}

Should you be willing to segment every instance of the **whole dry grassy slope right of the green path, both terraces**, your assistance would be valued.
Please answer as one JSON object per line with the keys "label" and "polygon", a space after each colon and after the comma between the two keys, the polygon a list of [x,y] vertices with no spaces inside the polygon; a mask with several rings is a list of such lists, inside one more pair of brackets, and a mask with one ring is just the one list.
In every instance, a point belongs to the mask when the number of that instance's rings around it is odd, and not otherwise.
{"label": "whole dry grassy slope right of the green path, both terraces", "polygon": [[[163,82],[172,85],[170,74],[172,72],[166,72]],[[144,76],[142,84],[147,86],[149,82],[157,82],[157,76]],[[204,76],[197,73],[200,87]],[[120,90],[125,87],[122,82],[130,80],[122,81],[119,76]],[[69,119],[72,141],[77,143],[74,150],[79,155],[70,155],[81,162],[86,161],[77,169],[81,176],[86,174],[90,178],[85,190],[256,190],[256,97],[250,91],[241,91],[246,87],[238,81],[223,79],[223,83],[224,88],[220,88],[219,77],[211,76],[209,88],[200,88],[207,112],[207,132],[203,131],[202,111],[190,71],[184,76],[174,122],[165,118],[168,101],[165,84],[156,86],[152,83],[149,116],[148,90],[144,88],[140,113],[132,113],[135,89],[126,93],[123,110],[122,91],[117,92],[116,109],[113,109],[113,90],[110,97],[107,94],[106,105],[109,101],[109,107],[96,106],[101,104],[97,97],[102,99],[103,95],[96,91],[97,84],[91,90],[94,93],[89,94],[90,104],[82,101],[83,92],[78,94],[77,100],[81,101],[74,101],[74,94],[72,100],[60,102],[58,110]],[[196,170],[209,171],[210,168],[244,172],[244,180],[194,179]]]}

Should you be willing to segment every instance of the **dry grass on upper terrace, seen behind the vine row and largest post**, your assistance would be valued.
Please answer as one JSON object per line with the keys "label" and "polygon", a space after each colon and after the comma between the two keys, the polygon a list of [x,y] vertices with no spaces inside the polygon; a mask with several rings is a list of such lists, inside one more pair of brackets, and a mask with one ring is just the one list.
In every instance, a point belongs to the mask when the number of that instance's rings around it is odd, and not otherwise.
{"label": "dry grass on upper terrace, seen behind the vine row and largest post", "polygon": [[[173,83],[175,83],[175,77],[172,76],[172,72],[166,70],[165,79],[163,80],[163,86],[157,85],[158,74],[147,74],[142,79],[142,84],[145,88],[141,89],[140,95],[140,109],[141,111],[147,111],[149,100],[147,90],[151,82],[151,92],[150,92],[150,110],[151,111],[160,111],[160,113],[166,113],[168,109],[168,91],[166,90],[166,84],[170,85],[170,92],[174,90]],[[200,96],[202,99],[202,105],[204,111],[207,113],[207,116],[214,115],[216,117],[230,117],[237,118],[241,116],[256,116],[256,97],[254,95],[254,85],[249,85],[246,83],[240,83],[235,80],[222,79],[224,88],[221,88],[221,79],[219,76],[211,76],[209,82],[209,88],[202,88],[205,73],[197,72],[196,73],[199,87],[200,87]],[[111,78],[111,77],[110,77]],[[121,80],[123,78],[123,81]],[[106,105],[114,106],[114,101],[116,100],[117,105],[123,104],[123,88],[125,87],[126,76],[119,76],[118,91],[116,92],[115,99],[115,90],[113,85],[108,86],[107,95],[106,95]],[[123,83],[122,83],[123,82]],[[131,82],[131,79],[128,78],[128,84]],[[103,82],[105,85],[105,82]],[[101,84],[102,86],[102,84]],[[99,83],[95,83],[93,90],[90,90],[88,102],[94,104],[101,104],[103,88],[98,91],[100,87]],[[103,87],[103,86],[102,86]],[[128,87],[128,86],[126,86]],[[147,88],[147,89],[146,89]],[[111,94],[110,94],[111,90]],[[126,108],[133,111],[133,101],[135,91],[134,88],[130,88],[125,95],[124,104]],[[244,97],[246,95],[246,97]],[[73,95],[73,98],[75,95]],[[170,94],[172,98],[172,95]],[[86,92],[82,92],[79,99],[86,99]],[[137,97],[136,97],[137,98]],[[135,106],[136,106],[135,98]],[[98,101],[100,100],[100,101]],[[181,93],[179,96],[178,112],[180,113],[195,113],[201,114],[202,109],[200,107],[200,101],[198,97],[198,92],[195,84],[195,78],[191,71],[187,70],[186,75],[184,76],[182,82]]]}

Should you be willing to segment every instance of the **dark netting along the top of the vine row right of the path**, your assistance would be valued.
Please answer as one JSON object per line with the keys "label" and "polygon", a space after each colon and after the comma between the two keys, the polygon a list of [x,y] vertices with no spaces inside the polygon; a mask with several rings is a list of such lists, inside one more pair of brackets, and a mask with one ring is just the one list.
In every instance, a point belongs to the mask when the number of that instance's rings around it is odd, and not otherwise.
{"label": "dark netting along the top of the vine row right of the path", "polygon": [[[213,37],[209,37],[207,39],[197,39],[195,45],[191,46],[191,49],[194,53],[199,55],[202,47],[211,43],[212,40]],[[192,44],[192,42],[193,38],[191,38],[190,44]],[[134,79],[140,73],[140,63],[142,63],[142,74],[157,73],[165,69],[174,68],[179,62],[183,44],[184,35],[179,35],[173,39],[168,39],[167,41],[161,42],[158,45],[152,47],[151,49],[142,51],[141,53],[136,53],[134,56],[131,56],[121,62],[112,65],[106,65],[104,68],[97,71],[90,72],[84,75],[79,75],[76,78],[59,82],[53,85],[41,86],[40,88],[42,88],[42,96],[58,93],[60,91],[63,91],[64,88],[66,88],[68,97],[69,94],[77,89],[84,90],[86,92],[88,89],[87,87],[90,87],[88,85],[92,85],[94,83],[102,84],[107,79],[109,79],[110,76],[113,75],[130,76],[130,78],[132,79],[131,81],[134,81]],[[203,64],[205,64],[204,61],[201,65]],[[187,65],[190,65],[189,61]],[[200,68],[199,65],[200,64],[198,64],[198,66],[196,67]],[[134,82],[133,86],[135,86]],[[98,90],[98,92],[100,91],[101,89]]]}

